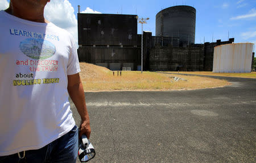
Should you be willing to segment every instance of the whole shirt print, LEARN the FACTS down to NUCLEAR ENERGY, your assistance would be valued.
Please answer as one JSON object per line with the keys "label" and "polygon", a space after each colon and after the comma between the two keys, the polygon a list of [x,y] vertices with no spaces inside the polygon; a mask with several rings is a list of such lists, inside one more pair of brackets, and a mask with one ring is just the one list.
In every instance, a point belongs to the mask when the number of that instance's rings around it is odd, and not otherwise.
{"label": "whole shirt print, LEARN the FACTS down to NUCLEAR ENERGY", "polygon": [[[13,86],[43,85],[59,83],[59,78],[35,78],[35,72],[57,72],[59,61],[48,59],[56,53],[52,40],[59,41],[59,36],[10,29],[10,35],[28,37],[19,43],[20,51],[31,59],[16,60],[19,69],[26,69],[30,73],[14,74]],[[24,72],[24,71],[23,71]]]}

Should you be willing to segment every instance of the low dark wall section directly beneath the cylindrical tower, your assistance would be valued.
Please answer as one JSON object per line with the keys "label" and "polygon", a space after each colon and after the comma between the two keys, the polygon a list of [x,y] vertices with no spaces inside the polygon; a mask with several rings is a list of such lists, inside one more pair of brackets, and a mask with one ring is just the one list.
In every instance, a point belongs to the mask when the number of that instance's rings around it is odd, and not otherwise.
{"label": "low dark wall section directly beneath the cylindrical tower", "polygon": [[200,71],[203,70],[204,46],[161,47],[150,51],[150,70]]}

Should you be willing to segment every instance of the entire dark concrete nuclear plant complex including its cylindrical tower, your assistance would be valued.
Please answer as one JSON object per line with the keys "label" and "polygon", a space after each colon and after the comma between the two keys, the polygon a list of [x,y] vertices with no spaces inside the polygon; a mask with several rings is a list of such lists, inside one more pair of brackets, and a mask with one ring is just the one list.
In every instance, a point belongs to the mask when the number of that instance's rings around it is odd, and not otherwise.
{"label": "entire dark concrete nuclear plant complex including its cylindrical tower", "polygon": [[[79,61],[110,70],[141,70],[141,39],[138,16],[77,14]],[[156,36],[143,31],[143,70],[212,71],[214,47],[231,44],[195,44],[196,9],[173,6],[156,14]]]}

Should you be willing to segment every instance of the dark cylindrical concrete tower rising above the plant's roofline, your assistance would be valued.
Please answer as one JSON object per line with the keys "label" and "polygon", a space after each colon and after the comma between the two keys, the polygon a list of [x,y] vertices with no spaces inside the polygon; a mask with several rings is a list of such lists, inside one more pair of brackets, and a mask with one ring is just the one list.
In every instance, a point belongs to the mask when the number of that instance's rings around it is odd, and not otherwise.
{"label": "dark cylindrical concrete tower rising above the plant's roofline", "polygon": [[196,9],[173,6],[156,14],[156,36],[180,37],[180,44],[195,43]]}

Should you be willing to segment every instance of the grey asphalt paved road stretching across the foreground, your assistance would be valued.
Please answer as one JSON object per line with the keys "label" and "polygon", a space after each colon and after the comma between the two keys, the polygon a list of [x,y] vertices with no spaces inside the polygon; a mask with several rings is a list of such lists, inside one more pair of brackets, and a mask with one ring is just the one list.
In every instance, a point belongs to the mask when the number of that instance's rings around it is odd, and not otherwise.
{"label": "grey asphalt paved road stretching across the foreground", "polygon": [[256,162],[256,79],[220,78],[233,85],[85,93],[90,162]]}

